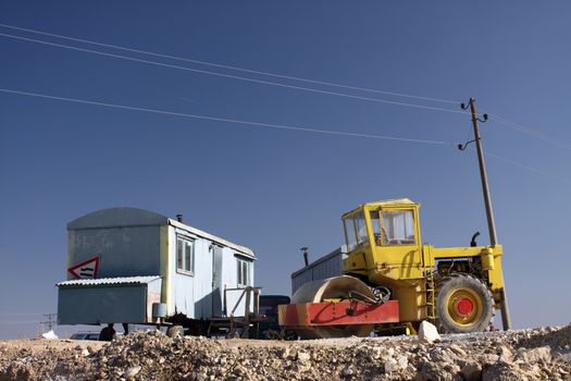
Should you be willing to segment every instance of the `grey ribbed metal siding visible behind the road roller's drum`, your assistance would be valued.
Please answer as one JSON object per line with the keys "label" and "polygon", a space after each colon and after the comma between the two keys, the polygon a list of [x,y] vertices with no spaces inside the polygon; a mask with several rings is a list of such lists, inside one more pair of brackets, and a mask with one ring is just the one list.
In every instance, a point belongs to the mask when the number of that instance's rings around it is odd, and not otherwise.
{"label": "grey ribbed metal siding visible behind the road roller's drum", "polygon": [[344,250],[338,248],[294,272],[291,274],[291,295],[308,282],[342,275],[343,255]]}

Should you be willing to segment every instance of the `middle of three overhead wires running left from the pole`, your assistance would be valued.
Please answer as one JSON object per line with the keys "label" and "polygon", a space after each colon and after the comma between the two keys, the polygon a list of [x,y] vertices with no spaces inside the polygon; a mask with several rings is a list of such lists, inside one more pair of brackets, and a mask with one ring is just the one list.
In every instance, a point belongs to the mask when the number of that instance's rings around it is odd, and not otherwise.
{"label": "middle of three overhead wires running left from the pole", "polygon": [[404,106],[404,107],[410,107],[410,108],[415,108],[415,109],[421,109],[421,110],[442,111],[442,112],[450,112],[450,113],[461,113],[461,114],[463,114],[462,111],[452,110],[452,109],[446,109],[446,108],[442,108],[442,107],[424,106],[424,105],[417,105],[417,103],[407,103],[407,102],[399,102],[399,101],[395,101],[395,100],[386,100],[386,99],[362,97],[362,96],[344,94],[344,93],[320,90],[320,89],[316,89],[316,88],[310,88],[310,87],[303,87],[303,86],[286,85],[286,84],[281,84],[281,83],[277,83],[277,82],[255,79],[255,78],[248,78],[248,77],[243,77],[243,76],[238,76],[238,75],[231,75],[231,74],[211,72],[211,71],[207,71],[207,70],[173,65],[173,64],[170,64],[170,63],[163,63],[163,62],[137,59],[137,58],[133,58],[133,57],[114,54],[114,53],[107,53],[107,52],[102,52],[102,51],[98,51],[98,50],[78,48],[78,47],[73,47],[73,46],[64,45],[64,44],[48,42],[48,41],[38,40],[38,39],[34,39],[34,38],[14,36],[14,35],[9,35],[9,34],[3,34],[3,33],[0,33],[0,36],[1,37],[13,38],[13,39],[20,39],[20,40],[24,40],[24,41],[28,41],[28,42],[48,45],[48,46],[58,47],[58,48],[64,48],[64,49],[71,49],[71,50],[76,50],[76,51],[83,51],[83,52],[92,53],[92,54],[111,57],[111,58],[121,59],[121,60],[147,63],[147,64],[162,66],[162,67],[184,70],[184,71],[195,72],[195,73],[199,73],[199,74],[214,75],[214,76],[220,76],[220,77],[225,77],[225,78],[246,81],[246,82],[257,83],[257,84],[261,84],[261,85],[280,86],[280,87],[285,87],[285,88],[290,88],[290,89],[296,89],[296,90],[302,90],[302,91],[309,91],[309,93],[315,93],[315,94],[324,94],[324,95],[331,95],[331,96],[336,96],[336,97],[345,97],[345,98],[351,98],[351,99],[358,99],[358,100],[367,100],[367,101],[378,102],[378,103]]}

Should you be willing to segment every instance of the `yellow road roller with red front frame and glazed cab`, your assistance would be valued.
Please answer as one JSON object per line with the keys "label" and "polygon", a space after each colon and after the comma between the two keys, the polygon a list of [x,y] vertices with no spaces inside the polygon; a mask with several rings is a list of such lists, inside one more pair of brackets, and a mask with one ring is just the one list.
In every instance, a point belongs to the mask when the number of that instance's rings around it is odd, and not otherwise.
{"label": "yellow road roller with red front frame and glazed cab", "polygon": [[423,244],[419,209],[401,198],[343,214],[343,275],[300,286],[280,306],[280,324],[303,337],[367,336],[423,320],[439,332],[488,330],[506,302],[501,245],[477,246],[479,233],[470,247]]}

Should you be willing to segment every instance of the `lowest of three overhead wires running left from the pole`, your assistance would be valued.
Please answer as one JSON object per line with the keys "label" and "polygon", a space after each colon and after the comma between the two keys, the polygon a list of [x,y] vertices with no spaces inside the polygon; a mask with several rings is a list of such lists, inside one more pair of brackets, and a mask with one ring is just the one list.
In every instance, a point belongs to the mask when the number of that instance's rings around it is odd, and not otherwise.
{"label": "lowest of three overhead wires running left from the pole", "polygon": [[235,123],[235,124],[243,124],[243,125],[255,126],[255,127],[289,130],[289,131],[310,132],[310,133],[327,134],[327,135],[364,137],[364,138],[373,138],[373,139],[420,143],[420,144],[430,144],[430,145],[447,145],[447,144],[451,145],[452,144],[452,143],[443,142],[443,140],[413,139],[413,138],[398,137],[398,136],[388,136],[388,135],[349,133],[349,132],[343,132],[343,131],[321,130],[321,128],[315,128],[315,127],[301,127],[301,126],[290,126],[290,125],[285,125],[285,124],[249,122],[249,121],[228,119],[228,118],[189,114],[189,113],[182,113],[182,112],[174,112],[174,111],[166,111],[166,110],[159,110],[159,109],[149,109],[149,108],[142,108],[142,107],[134,107],[134,106],[125,106],[125,105],[100,102],[100,101],[95,101],[95,100],[58,97],[58,96],[52,96],[52,95],[47,95],[47,94],[20,91],[20,90],[13,90],[13,89],[8,89],[8,88],[0,88],[0,91],[8,93],[8,94],[17,94],[17,95],[28,96],[28,97],[37,97],[37,98],[46,98],[46,99],[54,99],[54,100],[64,100],[64,101],[75,102],[75,103],[102,106],[102,107],[109,107],[109,108],[122,109],[122,110],[142,111],[142,112],[150,112],[150,113],[157,113],[157,114],[163,114],[163,115],[193,118],[193,119],[200,119],[200,120],[207,120],[207,121]]}

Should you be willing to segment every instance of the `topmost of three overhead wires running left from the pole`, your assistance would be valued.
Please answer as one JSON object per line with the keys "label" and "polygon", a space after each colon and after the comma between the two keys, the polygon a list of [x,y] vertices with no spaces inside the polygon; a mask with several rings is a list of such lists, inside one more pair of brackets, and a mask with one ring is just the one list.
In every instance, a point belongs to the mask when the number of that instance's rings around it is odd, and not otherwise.
{"label": "topmost of three overhead wires running left from the pole", "polygon": [[332,86],[332,87],[338,87],[338,88],[346,88],[346,89],[350,89],[350,90],[376,93],[376,94],[383,94],[383,95],[395,96],[395,97],[404,97],[404,98],[427,100],[427,101],[434,101],[434,102],[444,102],[444,103],[454,103],[454,105],[459,103],[459,101],[456,101],[456,100],[448,100],[448,99],[433,98],[433,97],[423,97],[423,96],[402,94],[402,93],[395,93],[395,91],[386,91],[386,90],[380,90],[380,89],[369,88],[369,87],[359,87],[359,86],[352,86],[352,85],[345,85],[345,84],[339,84],[339,83],[334,83],[334,82],[328,82],[328,81],[309,79],[309,78],[302,78],[302,77],[297,77],[297,76],[291,76],[291,75],[275,74],[275,73],[270,73],[270,72],[262,72],[262,71],[257,71],[257,70],[251,70],[251,69],[246,69],[246,67],[240,67],[240,66],[233,66],[233,65],[226,65],[226,64],[208,62],[208,61],[199,61],[199,60],[188,59],[188,58],[184,58],[184,57],[177,57],[177,56],[171,56],[171,54],[162,54],[162,53],[157,53],[157,52],[148,51],[148,50],[140,50],[140,49],[122,47],[122,46],[117,46],[117,45],[111,45],[111,44],[103,44],[103,42],[92,41],[92,40],[83,39],[83,38],[75,38],[75,37],[70,37],[70,36],[64,36],[64,35],[57,35],[57,34],[52,34],[52,33],[47,33],[47,32],[37,30],[37,29],[29,29],[29,28],[18,27],[18,26],[14,26],[14,25],[8,25],[8,24],[1,24],[0,23],[0,26],[3,26],[5,28],[10,28],[10,29],[15,29],[15,30],[22,30],[22,32],[28,32],[28,33],[34,33],[34,34],[38,34],[38,35],[44,35],[44,36],[62,38],[62,39],[76,41],[76,42],[91,44],[91,45],[96,45],[96,46],[100,46],[100,47],[104,47],[104,48],[119,49],[119,50],[129,51],[129,52],[134,52],[134,53],[148,54],[148,56],[160,57],[160,58],[165,58],[165,59],[176,60],[176,61],[183,61],[183,62],[198,63],[198,64],[201,64],[201,65],[208,65],[208,66],[220,67],[220,69],[229,69],[229,70],[239,71],[239,72],[244,72],[244,73],[266,75],[266,76],[273,76],[273,77],[276,77],[276,78],[293,79],[293,81],[306,82],[306,83],[316,84],[316,85],[325,85],[325,86]]}

